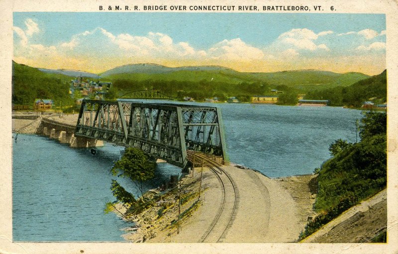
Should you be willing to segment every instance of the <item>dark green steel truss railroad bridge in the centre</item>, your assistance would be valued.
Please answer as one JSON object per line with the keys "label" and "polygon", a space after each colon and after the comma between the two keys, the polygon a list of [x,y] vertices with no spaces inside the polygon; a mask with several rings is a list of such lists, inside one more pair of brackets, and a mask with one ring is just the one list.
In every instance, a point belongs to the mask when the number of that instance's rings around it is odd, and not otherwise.
{"label": "dark green steel truss railroad bridge in the centre", "polygon": [[186,168],[187,150],[226,158],[224,129],[216,107],[126,101],[82,101],[75,136],[135,147]]}

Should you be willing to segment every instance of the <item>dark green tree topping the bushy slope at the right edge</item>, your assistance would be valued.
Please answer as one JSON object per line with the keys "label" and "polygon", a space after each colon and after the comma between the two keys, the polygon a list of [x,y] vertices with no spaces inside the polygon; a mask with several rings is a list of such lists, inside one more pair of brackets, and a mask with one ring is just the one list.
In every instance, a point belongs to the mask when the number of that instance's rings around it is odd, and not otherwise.
{"label": "dark green tree topping the bushy slope at the right edge", "polygon": [[366,139],[377,134],[387,133],[387,112],[385,111],[367,111],[361,119],[359,126],[359,136]]}

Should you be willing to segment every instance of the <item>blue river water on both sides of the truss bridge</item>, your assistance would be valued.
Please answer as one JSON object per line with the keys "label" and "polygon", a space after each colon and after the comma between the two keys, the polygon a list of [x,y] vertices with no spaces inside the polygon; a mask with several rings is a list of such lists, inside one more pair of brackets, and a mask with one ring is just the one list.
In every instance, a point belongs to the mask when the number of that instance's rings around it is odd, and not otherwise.
{"label": "blue river water on both sides of the truss bridge", "polygon": [[[222,111],[231,162],[270,177],[311,173],[327,160],[329,144],[355,142],[360,111],[337,107],[207,104]],[[18,135],[13,142],[13,241],[122,242],[131,224],[104,213],[114,201],[109,173],[122,147],[105,144],[93,156],[47,137]],[[158,164],[154,188],[181,169]],[[117,178],[138,194],[134,183]]]}

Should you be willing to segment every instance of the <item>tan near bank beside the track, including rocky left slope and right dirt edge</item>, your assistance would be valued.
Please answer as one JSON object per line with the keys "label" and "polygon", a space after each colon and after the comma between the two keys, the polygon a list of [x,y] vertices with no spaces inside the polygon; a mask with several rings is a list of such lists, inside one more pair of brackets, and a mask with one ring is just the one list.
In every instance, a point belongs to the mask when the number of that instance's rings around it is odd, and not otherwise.
{"label": "tan near bank beside the track, including rocky left slope and right dirt edge", "polygon": [[[218,242],[283,243],[298,240],[307,218],[314,214],[315,196],[308,187],[313,175],[270,179],[251,169],[233,166],[223,169],[235,181],[239,198],[234,218]],[[123,237],[131,242],[202,242],[217,216],[222,193],[217,177],[210,169],[203,169],[200,199],[199,184],[200,168],[181,181],[181,193],[187,195],[188,201],[181,206],[179,233],[178,195],[171,191],[142,213],[126,216],[134,221],[137,229],[126,232]],[[124,212],[120,204],[116,207]]]}

